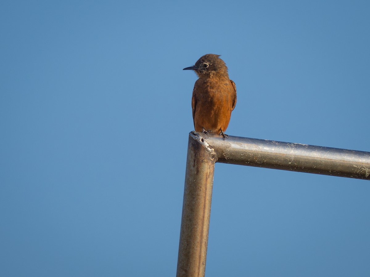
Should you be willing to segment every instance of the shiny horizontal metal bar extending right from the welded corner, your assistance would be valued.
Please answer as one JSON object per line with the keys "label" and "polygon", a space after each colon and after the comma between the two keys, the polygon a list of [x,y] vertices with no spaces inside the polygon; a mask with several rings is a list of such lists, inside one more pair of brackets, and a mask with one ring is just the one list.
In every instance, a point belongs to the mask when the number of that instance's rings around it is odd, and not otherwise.
{"label": "shiny horizontal metal bar extending right from the welded corner", "polygon": [[218,163],[370,180],[370,152],[191,132],[213,148]]}

